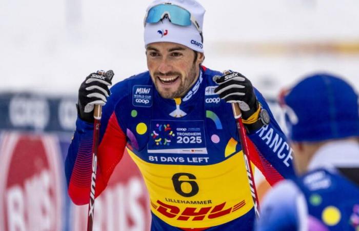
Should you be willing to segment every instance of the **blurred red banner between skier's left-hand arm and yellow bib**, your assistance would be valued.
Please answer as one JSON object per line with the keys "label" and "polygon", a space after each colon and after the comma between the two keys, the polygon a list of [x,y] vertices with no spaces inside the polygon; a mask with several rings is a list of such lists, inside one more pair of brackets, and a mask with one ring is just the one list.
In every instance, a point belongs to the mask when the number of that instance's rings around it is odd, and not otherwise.
{"label": "blurred red banner between skier's left-hand arm and yellow bib", "polygon": [[[88,205],[73,206],[72,230],[86,230]],[[147,231],[150,222],[146,186],[137,166],[125,152],[106,189],[95,199],[93,231]]]}

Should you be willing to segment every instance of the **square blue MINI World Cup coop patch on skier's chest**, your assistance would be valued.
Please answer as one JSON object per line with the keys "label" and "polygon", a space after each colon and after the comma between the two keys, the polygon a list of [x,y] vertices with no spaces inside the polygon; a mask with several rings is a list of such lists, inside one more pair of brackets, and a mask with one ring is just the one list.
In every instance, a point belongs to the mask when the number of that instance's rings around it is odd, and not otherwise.
{"label": "square blue MINI World Cup coop patch on skier's chest", "polygon": [[135,85],[133,86],[132,104],[136,107],[152,106],[152,86]]}

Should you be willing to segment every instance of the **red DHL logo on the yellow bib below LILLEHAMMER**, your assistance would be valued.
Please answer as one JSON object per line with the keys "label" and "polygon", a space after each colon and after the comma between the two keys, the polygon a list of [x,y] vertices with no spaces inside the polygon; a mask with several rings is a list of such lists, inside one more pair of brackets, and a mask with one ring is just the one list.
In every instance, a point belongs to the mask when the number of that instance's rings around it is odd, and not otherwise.
{"label": "red DHL logo on the yellow bib below LILLEHAMMER", "polygon": [[168,218],[176,218],[179,221],[202,221],[206,216],[208,219],[215,219],[233,213],[242,208],[246,202],[243,200],[229,208],[225,208],[226,202],[224,202],[211,207],[186,207],[183,211],[177,206],[169,205],[159,200],[157,200],[157,204],[151,201],[151,206]]}

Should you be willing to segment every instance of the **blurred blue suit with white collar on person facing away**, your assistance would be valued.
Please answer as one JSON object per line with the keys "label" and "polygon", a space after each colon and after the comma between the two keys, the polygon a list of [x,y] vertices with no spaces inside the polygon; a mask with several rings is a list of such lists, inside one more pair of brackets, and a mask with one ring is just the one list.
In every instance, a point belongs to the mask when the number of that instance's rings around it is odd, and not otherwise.
{"label": "blurred blue suit with white collar on person facing away", "polygon": [[313,157],[309,172],[265,196],[256,231],[359,230],[359,144],[337,141]]}

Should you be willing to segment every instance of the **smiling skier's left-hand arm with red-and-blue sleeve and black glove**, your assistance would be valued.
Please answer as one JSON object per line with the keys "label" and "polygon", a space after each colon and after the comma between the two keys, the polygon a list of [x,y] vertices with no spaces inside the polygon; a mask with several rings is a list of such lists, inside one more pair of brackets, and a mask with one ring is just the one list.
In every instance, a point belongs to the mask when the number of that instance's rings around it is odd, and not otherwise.
{"label": "smiling skier's left-hand arm with red-and-blue sleeve and black glove", "polygon": [[[86,80],[88,79],[89,78]],[[118,92],[118,89],[121,88],[111,88],[112,94],[106,99],[107,95],[105,95],[105,93],[102,96],[93,94],[104,92],[103,90],[98,90],[97,87],[89,87],[88,85],[92,83],[99,85],[101,88],[107,88],[106,86],[98,84],[96,81],[88,81],[89,83],[85,84],[86,80],[79,90],[76,130],[65,161],[68,194],[75,204],[87,204],[89,201],[88,195],[90,193],[93,139],[93,122],[91,120],[93,116],[92,111],[85,112],[85,105],[93,101],[97,101],[98,103],[99,100],[104,100],[104,98],[107,101],[103,107],[101,119],[95,196],[101,194],[105,189],[114,167],[123,156],[126,146],[126,136],[118,125],[119,119],[114,112],[117,102],[121,101],[121,99],[118,99],[118,95],[124,95],[123,92],[122,94]],[[90,92],[86,92],[84,89],[90,89],[86,90]],[[88,95],[95,95],[96,97],[94,97],[95,99],[91,99]]]}

